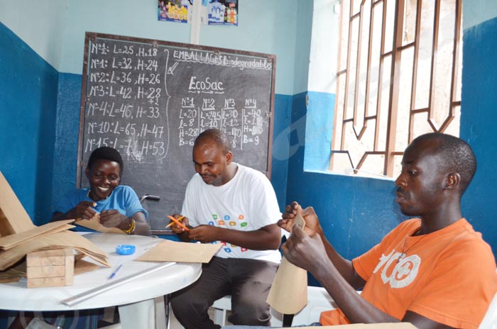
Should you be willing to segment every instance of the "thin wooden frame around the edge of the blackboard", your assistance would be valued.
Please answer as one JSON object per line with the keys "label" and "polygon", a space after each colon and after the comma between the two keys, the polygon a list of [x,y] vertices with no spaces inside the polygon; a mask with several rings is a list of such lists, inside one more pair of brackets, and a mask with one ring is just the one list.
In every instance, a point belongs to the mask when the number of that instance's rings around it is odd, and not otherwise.
{"label": "thin wooden frame around the edge of the blackboard", "polygon": [[[214,48],[203,45],[190,45],[187,43],[173,43],[169,41],[163,40],[152,40],[147,38],[133,38],[129,36],[122,35],[111,35],[104,33],[93,33],[87,32],[85,34],[84,39],[84,61],[83,61],[83,72],[82,72],[82,90],[81,90],[81,103],[80,103],[80,130],[79,130],[79,140],[78,140],[78,150],[77,150],[77,188],[82,187],[82,182],[84,179],[84,168],[86,163],[84,162],[84,126],[85,126],[85,108],[87,106],[88,97],[87,97],[87,84],[88,84],[88,74],[89,74],[89,55],[90,55],[90,44],[95,40],[117,40],[122,42],[129,42],[138,45],[148,45],[152,48],[160,48],[160,46],[164,46],[166,48],[180,48],[184,50],[199,50],[204,52],[212,52],[214,55],[219,54],[229,54],[229,55],[240,55],[247,57],[255,57],[257,59],[267,60],[268,63],[271,63],[271,90],[269,92],[268,99],[268,129],[267,129],[267,150],[265,152],[266,156],[266,170],[263,171],[266,176],[271,179],[271,155],[272,155],[272,147],[273,147],[273,120],[274,120],[274,85],[275,85],[275,55],[263,54],[260,52],[247,52],[242,50],[231,50],[227,48]],[[167,62],[166,62],[167,66]],[[164,79],[167,74],[165,74]],[[165,88],[167,89],[167,87]],[[109,145],[112,146],[112,145]],[[234,155],[236,156],[236,152],[234,151]],[[122,153],[121,153],[122,154]],[[236,160],[236,157],[235,157]],[[125,171],[126,171],[126,159],[125,162]],[[193,166],[192,166],[193,167]],[[126,184],[124,182],[123,184]],[[132,186],[132,185],[131,185]],[[137,191],[138,193],[138,191]],[[138,193],[138,196],[142,194]],[[179,209],[180,210],[180,209]],[[168,234],[170,233],[169,229],[163,229],[159,227],[161,225],[153,225],[151,222],[151,230],[153,234]],[[154,227],[157,226],[157,227]]]}

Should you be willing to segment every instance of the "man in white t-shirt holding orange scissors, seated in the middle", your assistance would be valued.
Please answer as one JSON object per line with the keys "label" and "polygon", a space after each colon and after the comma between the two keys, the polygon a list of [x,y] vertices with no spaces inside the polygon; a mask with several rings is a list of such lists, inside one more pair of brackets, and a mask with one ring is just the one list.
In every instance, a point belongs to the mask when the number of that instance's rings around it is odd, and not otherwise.
{"label": "man in white t-shirt holding orange scissors, seated in the middle", "polygon": [[[266,303],[280,264],[281,213],[269,179],[233,162],[226,135],[205,130],[193,145],[195,174],[188,183],[181,215],[183,241],[221,243],[222,247],[194,284],[173,294],[171,305],[186,329],[219,328],[207,314],[212,303],[231,295],[234,324],[270,325]],[[180,214],[175,214],[180,218]]]}

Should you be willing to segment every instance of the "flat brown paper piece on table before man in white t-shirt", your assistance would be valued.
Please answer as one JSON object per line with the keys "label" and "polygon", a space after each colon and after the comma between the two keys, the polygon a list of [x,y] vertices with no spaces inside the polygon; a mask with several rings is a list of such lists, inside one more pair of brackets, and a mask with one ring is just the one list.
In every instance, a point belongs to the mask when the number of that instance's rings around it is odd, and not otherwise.
{"label": "flat brown paper piece on table before man in white t-shirt", "polygon": [[164,240],[136,260],[144,262],[208,263],[221,244]]}

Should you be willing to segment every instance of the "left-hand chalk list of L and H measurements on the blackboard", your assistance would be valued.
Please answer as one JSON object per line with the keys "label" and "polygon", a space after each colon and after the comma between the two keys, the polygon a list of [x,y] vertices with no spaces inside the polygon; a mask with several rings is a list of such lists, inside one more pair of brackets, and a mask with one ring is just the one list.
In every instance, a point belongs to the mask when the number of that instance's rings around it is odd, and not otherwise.
{"label": "left-hand chalk list of L and H measurements on the blackboard", "polygon": [[146,161],[165,156],[163,69],[152,45],[97,40],[89,50],[84,153],[101,146]]}

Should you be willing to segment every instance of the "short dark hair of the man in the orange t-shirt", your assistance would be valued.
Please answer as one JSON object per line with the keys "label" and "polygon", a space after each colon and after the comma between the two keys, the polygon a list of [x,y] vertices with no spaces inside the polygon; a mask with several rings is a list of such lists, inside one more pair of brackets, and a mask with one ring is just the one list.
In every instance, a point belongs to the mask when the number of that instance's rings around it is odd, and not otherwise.
{"label": "short dark hair of the man in the orange t-shirt", "polygon": [[413,143],[417,140],[437,140],[439,142],[435,147],[435,152],[440,159],[439,165],[448,171],[459,173],[461,176],[460,195],[464,194],[476,172],[476,157],[471,146],[461,138],[444,133],[420,135],[413,140]]}

